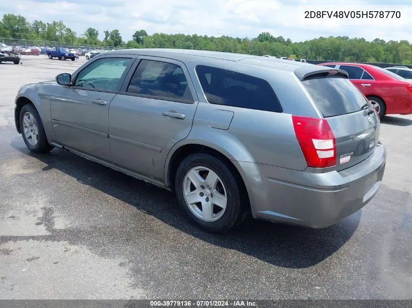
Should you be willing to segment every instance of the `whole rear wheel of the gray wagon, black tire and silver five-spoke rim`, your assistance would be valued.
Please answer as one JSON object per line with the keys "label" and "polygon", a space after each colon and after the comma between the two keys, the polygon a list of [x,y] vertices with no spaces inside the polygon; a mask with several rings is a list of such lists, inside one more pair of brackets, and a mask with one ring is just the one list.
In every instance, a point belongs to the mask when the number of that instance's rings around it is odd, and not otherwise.
{"label": "whole rear wheel of the gray wagon, black tire and silver five-spoke rim", "polygon": [[241,179],[222,159],[206,153],[189,155],[177,169],[179,205],[200,228],[221,233],[241,223],[249,201]]}

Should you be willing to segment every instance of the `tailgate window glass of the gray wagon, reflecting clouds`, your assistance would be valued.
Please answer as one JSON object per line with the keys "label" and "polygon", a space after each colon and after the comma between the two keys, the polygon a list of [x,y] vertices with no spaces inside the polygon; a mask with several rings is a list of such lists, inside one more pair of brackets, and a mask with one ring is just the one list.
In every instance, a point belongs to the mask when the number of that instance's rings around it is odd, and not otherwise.
{"label": "tailgate window glass of the gray wagon, reflecting clouds", "polygon": [[355,112],[367,103],[363,94],[346,78],[314,78],[302,83],[324,117]]}

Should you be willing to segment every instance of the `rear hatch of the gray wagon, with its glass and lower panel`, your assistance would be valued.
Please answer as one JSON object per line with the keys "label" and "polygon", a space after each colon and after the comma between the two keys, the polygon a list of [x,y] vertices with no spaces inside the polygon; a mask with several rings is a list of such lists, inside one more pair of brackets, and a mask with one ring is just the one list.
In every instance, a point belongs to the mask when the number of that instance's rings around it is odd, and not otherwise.
{"label": "rear hatch of the gray wagon, with its glass and lower panel", "polygon": [[302,84],[334,133],[335,170],[368,158],[379,141],[379,117],[347,75],[337,70],[319,72],[306,75]]}

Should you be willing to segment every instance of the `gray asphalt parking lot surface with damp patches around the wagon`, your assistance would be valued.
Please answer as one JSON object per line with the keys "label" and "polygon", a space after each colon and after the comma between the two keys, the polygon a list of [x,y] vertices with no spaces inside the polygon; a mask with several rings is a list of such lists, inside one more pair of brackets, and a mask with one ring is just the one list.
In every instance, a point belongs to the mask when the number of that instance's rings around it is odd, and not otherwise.
{"label": "gray asphalt parking lot surface with damp patches around the wagon", "polygon": [[85,59],[21,62],[0,64],[0,298],[412,299],[412,115],[382,120],[383,184],[361,211],[323,230],[250,219],[211,235],[166,190],[29,152],[18,89]]}

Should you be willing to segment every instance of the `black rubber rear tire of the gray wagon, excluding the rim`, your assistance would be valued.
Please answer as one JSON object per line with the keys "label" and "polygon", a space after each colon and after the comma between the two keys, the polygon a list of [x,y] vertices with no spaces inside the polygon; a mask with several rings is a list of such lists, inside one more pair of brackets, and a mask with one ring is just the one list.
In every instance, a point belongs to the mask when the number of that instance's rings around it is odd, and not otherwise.
{"label": "black rubber rear tire of the gray wagon, excluding the rim", "polygon": [[[215,221],[204,221],[196,217],[189,209],[183,197],[184,178],[187,172],[196,166],[207,167],[216,172],[226,189],[226,210],[222,217]],[[182,163],[180,163],[176,173],[175,192],[179,205],[190,220],[207,232],[226,232],[229,229],[239,225],[249,213],[249,198],[242,180],[239,179],[232,167],[228,166],[224,160],[211,154],[191,154],[186,157]]]}

